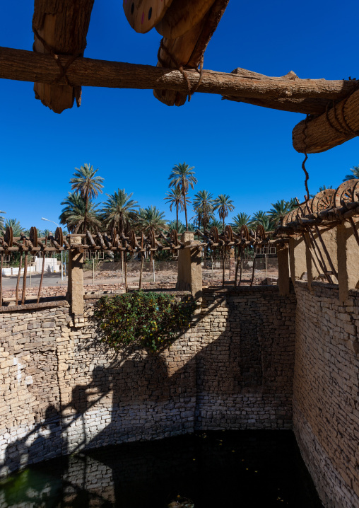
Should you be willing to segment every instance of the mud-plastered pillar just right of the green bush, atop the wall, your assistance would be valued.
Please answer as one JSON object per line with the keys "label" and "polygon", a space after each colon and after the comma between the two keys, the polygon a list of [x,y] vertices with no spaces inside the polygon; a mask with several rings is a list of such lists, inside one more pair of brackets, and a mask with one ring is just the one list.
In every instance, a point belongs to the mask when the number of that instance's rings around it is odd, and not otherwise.
{"label": "mud-plastered pillar just right of the green bush, atop the wall", "polygon": [[[194,233],[186,231],[182,234],[185,246],[196,245]],[[202,266],[201,251],[199,249],[180,249],[178,251],[178,277],[176,289],[191,291],[195,299],[202,297]]]}

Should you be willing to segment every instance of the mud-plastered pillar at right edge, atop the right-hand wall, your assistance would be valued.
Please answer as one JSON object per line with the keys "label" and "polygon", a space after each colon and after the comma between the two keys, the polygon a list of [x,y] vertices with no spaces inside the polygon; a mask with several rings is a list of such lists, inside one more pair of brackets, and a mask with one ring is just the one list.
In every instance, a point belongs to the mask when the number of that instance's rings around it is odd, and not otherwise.
{"label": "mud-plastered pillar at right edge, atop the right-hand wall", "polygon": [[[355,224],[359,230],[359,223]],[[338,282],[339,300],[344,304],[348,300],[348,291],[358,288],[359,246],[349,222],[343,222],[336,227],[338,253]]]}

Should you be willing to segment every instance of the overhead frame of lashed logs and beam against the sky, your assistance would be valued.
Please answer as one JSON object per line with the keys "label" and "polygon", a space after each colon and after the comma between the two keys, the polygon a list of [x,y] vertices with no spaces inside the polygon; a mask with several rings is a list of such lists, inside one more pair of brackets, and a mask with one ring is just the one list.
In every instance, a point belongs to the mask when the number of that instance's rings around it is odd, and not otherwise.
{"label": "overhead frame of lashed logs and beam against the sky", "polygon": [[105,86],[152,88],[167,105],[182,105],[197,91],[305,113],[309,116],[293,129],[293,146],[305,154],[325,151],[358,135],[359,82],[355,79],[299,79],[293,71],[269,77],[240,68],[230,74],[202,69],[204,52],[228,1],[167,0],[161,4],[153,0],[155,14],[150,2],[143,29],[141,1],[134,1],[130,11],[124,4],[136,31],[154,27],[164,35],[157,67],[151,67],[83,57],[93,0],[35,0],[34,52],[1,47],[0,78],[33,81],[36,98],[55,112],[71,108],[74,100],[80,105],[81,86]]}

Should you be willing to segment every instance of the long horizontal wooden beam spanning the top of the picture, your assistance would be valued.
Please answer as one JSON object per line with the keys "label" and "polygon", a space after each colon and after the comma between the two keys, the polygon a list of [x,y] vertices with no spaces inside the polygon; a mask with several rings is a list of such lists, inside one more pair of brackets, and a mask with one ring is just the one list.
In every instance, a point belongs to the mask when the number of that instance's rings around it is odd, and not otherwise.
{"label": "long horizontal wooden beam spanning the top of the picture", "polygon": [[[70,58],[66,55],[59,56],[63,65],[66,65]],[[66,75],[71,86],[163,88],[187,92],[187,82],[179,71],[150,65],[125,64],[78,57],[71,63]],[[58,76],[59,67],[51,55],[0,47],[0,78],[52,84]],[[199,79],[198,72],[193,69],[187,71],[187,76],[192,86]],[[61,84],[66,83],[61,80]],[[204,70],[197,91],[256,100],[259,98],[338,100],[345,98],[355,86],[355,81],[298,78],[293,80],[252,79],[225,72]]]}

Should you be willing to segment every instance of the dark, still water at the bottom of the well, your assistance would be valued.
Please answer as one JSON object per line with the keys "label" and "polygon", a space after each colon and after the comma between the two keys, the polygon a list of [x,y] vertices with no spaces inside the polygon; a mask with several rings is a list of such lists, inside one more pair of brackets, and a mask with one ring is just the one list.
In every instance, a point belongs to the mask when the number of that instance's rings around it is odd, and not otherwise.
{"label": "dark, still water at the bottom of the well", "polygon": [[0,508],[320,508],[290,431],[212,431],[29,466]]}

